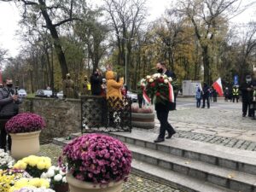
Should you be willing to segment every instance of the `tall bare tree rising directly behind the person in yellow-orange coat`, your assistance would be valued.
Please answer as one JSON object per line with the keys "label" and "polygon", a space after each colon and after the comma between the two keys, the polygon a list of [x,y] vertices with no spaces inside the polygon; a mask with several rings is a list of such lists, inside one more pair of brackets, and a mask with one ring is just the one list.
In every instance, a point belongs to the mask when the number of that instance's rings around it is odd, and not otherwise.
{"label": "tall bare tree rising directly behind the person in yellow-orange coat", "polygon": [[[127,76],[129,76],[129,68],[131,68],[131,49],[132,41],[135,39],[139,28],[145,20],[145,2],[146,0],[104,0],[105,10],[111,20],[110,26],[117,38],[117,46],[119,49],[118,64],[127,65]],[[126,58],[125,58],[126,51]],[[125,82],[126,84],[129,84]]]}

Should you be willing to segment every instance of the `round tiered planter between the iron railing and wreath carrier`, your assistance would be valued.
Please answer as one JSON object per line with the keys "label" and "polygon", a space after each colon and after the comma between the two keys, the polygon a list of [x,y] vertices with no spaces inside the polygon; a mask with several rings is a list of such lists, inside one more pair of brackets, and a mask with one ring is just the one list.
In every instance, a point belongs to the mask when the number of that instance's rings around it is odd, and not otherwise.
{"label": "round tiered planter between the iron railing and wreath carrier", "polygon": [[131,125],[143,128],[154,128],[154,113],[131,113]]}

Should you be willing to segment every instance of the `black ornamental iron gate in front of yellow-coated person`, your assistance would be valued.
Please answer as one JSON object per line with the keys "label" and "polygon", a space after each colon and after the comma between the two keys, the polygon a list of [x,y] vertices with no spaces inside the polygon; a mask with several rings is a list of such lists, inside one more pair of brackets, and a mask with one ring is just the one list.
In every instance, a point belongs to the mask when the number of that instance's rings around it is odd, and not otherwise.
{"label": "black ornamental iron gate in front of yellow-coated person", "polygon": [[81,96],[81,132],[131,132],[131,99]]}

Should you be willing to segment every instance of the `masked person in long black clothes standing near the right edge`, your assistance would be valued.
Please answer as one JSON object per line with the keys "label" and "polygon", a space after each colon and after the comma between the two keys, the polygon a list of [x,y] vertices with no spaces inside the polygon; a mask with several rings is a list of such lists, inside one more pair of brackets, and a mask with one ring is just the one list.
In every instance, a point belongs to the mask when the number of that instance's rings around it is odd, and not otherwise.
{"label": "masked person in long black clothes standing near the right edge", "polygon": [[253,110],[250,108],[250,104],[253,102],[253,84],[251,75],[246,76],[246,81],[241,84],[241,99],[242,99],[242,117],[253,117]]}

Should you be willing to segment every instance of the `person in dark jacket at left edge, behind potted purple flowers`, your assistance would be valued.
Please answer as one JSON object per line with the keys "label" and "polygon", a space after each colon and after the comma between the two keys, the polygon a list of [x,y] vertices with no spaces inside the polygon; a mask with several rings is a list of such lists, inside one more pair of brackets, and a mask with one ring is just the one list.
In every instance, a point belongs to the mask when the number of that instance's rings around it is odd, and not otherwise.
{"label": "person in dark jacket at left edge, behind potted purple flowers", "polygon": [[3,148],[4,151],[7,150],[6,137],[8,137],[8,148],[9,150],[11,149],[11,138],[7,136],[5,131],[5,124],[10,118],[19,113],[20,103],[21,101],[13,89],[12,79],[7,79],[5,86],[0,88],[0,148]]}

